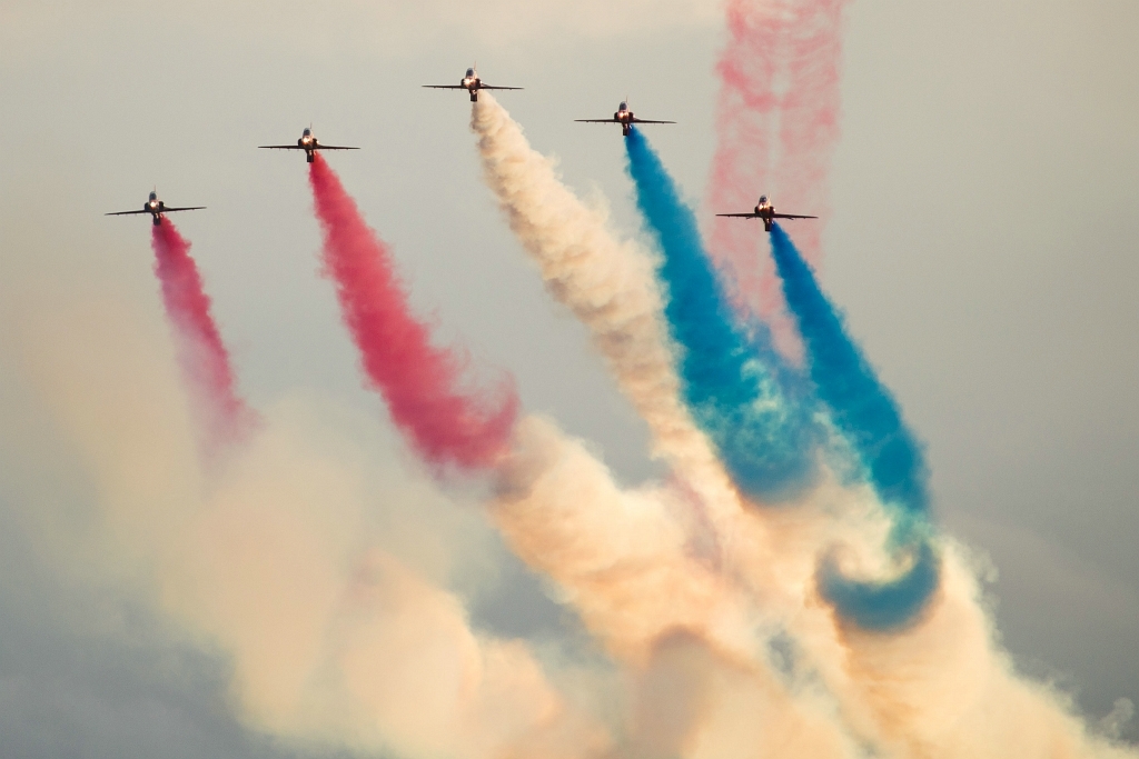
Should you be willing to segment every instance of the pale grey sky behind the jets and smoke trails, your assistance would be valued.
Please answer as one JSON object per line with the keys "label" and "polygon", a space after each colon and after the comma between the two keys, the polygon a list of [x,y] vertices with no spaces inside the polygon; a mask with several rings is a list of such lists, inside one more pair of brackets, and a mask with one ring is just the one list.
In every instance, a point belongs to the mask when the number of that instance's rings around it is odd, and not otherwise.
{"label": "pale grey sky behind the jets and smoke trails", "polygon": [[[157,184],[208,206],[175,221],[252,403],[300,389],[386,424],[317,275],[304,160],[255,149],[311,122],[362,148],[330,163],[416,306],[640,481],[644,426],[482,185],[466,96],[419,85],[477,60],[526,88],[500,101],[633,233],[618,131],[573,119],[626,94],[675,119],[649,138],[698,203],[721,23],[698,0],[0,0],[0,314],[59,281],[161,320],[148,221],[101,215]],[[1018,665],[1093,719],[1139,702],[1139,3],[852,0],[843,71],[823,284],[927,442],[942,521],[991,556]],[[0,357],[3,427],[21,361]],[[0,465],[0,754],[294,756],[231,716],[222,659],[57,576],[18,481]],[[506,566],[477,622],[572,626]]]}

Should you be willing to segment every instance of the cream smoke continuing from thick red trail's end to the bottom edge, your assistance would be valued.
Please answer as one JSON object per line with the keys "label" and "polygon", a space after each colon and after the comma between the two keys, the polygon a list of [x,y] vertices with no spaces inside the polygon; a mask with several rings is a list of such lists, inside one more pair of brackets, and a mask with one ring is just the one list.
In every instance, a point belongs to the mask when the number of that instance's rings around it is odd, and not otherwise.
{"label": "cream smoke continuing from thick red trail's end to the bottom edge", "polygon": [[584,445],[535,418],[519,423],[498,490],[491,514],[514,551],[639,683],[636,750],[859,756],[829,694],[772,666],[771,622],[752,594],[694,555],[683,493],[621,490]]}

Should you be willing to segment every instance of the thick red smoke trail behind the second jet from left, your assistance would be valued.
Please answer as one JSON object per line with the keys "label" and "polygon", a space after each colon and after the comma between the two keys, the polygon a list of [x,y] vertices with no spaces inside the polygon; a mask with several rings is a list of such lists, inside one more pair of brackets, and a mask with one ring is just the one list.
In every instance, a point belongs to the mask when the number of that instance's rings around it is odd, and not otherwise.
{"label": "thick red smoke trail behind the second jet from left", "polygon": [[517,416],[514,388],[497,403],[459,393],[462,361],[431,345],[427,325],[411,316],[386,246],[319,155],[309,165],[309,181],[325,236],[326,271],[336,282],[363,370],[392,419],[433,464],[493,464]]}

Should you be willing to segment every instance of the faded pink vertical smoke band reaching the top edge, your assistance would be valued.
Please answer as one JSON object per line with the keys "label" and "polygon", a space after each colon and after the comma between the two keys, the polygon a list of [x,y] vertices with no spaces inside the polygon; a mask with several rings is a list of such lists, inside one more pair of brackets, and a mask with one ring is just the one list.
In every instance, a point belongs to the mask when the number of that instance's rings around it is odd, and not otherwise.
{"label": "faded pink vertical smoke band reaching the top edge", "polygon": [[[828,173],[838,140],[842,11],[846,0],[729,0],[720,58],[719,146],[708,198],[719,212],[746,211],[760,195],[787,213],[795,241],[818,263],[829,211]],[[736,286],[737,305],[785,332],[782,298],[757,222],[718,218],[712,255]]]}

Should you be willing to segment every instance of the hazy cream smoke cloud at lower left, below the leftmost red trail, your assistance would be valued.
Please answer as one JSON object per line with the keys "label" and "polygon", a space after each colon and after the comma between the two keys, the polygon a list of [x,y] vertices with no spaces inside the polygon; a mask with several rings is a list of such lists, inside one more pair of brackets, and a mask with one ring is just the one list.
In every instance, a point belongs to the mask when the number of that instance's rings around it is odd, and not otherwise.
{"label": "hazy cream smoke cloud at lower left, below the leftmost red trail", "polygon": [[76,297],[56,280],[21,282],[18,328],[0,331],[15,368],[0,372],[0,411],[17,399],[27,411],[0,424],[0,449],[23,452],[0,473],[19,509],[5,529],[42,526],[46,566],[100,600],[109,586],[136,602],[126,621],[96,620],[100,637],[133,649],[161,625],[200,644],[163,682],[228,679],[216,707],[286,753],[612,756],[591,704],[557,684],[582,671],[473,627],[443,585],[485,571],[491,534],[473,504],[309,391],[279,398],[205,482],[165,325],[108,297],[113,284]]}

